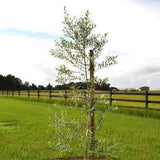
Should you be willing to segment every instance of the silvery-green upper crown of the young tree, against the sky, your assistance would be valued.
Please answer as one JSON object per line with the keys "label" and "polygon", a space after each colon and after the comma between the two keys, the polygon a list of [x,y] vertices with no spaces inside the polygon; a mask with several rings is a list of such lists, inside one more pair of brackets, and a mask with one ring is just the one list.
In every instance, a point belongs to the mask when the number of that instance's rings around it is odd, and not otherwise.
{"label": "silvery-green upper crown of the young tree, against the sky", "polygon": [[107,33],[103,35],[94,33],[96,25],[90,19],[89,11],[77,18],[71,17],[64,7],[63,25],[64,36],[55,41],[55,49],[51,49],[50,52],[72,67],[60,66],[57,69],[57,82],[69,82],[75,79],[88,82],[90,49],[94,52],[95,71],[116,63],[117,56],[106,56],[104,61],[98,61],[103,47],[108,42]]}

